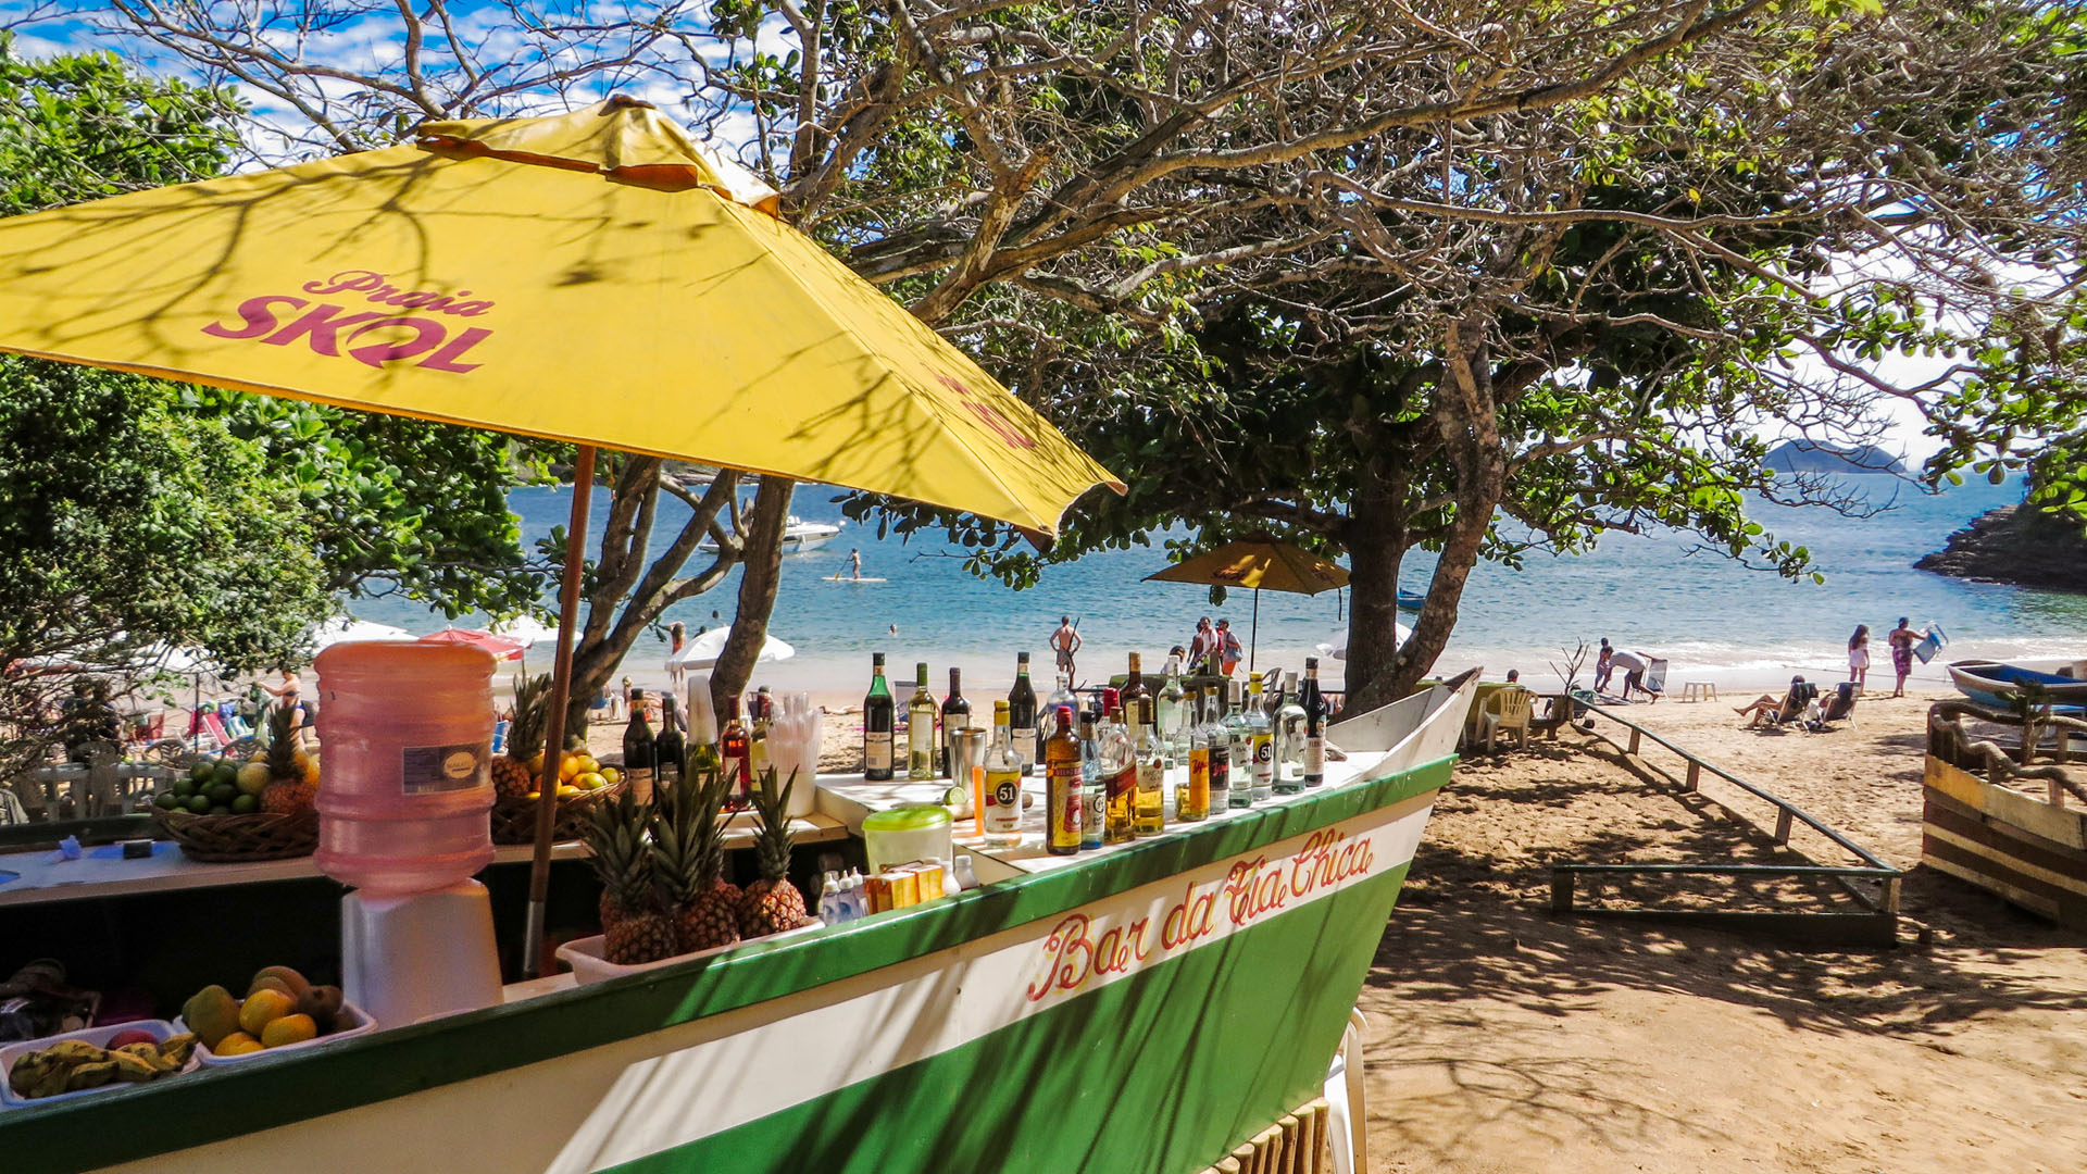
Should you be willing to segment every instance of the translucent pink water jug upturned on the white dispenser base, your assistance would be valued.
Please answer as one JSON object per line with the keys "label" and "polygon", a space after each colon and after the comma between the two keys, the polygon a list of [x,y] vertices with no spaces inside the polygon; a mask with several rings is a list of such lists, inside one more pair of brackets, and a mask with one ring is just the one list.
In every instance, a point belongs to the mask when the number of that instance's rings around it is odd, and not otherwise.
{"label": "translucent pink water jug upturned on the white dispenser base", "polygon": [[493,656],[459,643],[319,652],[319,871],[369,892],[493,863]]}

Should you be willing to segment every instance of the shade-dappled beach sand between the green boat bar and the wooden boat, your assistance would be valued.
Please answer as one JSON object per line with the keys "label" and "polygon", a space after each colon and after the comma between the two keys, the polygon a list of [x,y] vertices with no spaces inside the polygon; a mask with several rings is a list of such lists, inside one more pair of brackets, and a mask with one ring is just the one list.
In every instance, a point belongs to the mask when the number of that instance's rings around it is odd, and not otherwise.
{"label": "shade-dappled beach sand between the green boat bar and the wooden boat", "polygon": [[1553,917],[1551,861],[1789,859],[1774,811],[1578,731],[1463,762],[1361,999],[1371,1170],[2087,1170],[2087,938],[1916,867],[1930,698],[1866,698],[1824,735],[1741,731],[1741,700],[1628,712],[1912,869],[1901,944]]}

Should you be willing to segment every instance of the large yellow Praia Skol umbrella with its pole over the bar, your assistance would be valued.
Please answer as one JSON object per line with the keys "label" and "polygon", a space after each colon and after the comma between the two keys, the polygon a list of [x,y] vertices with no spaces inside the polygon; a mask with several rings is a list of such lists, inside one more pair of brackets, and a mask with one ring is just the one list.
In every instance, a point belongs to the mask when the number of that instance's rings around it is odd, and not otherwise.
{"label": "large yellow Praia Skol umbrella with its pole over the bar", "polygon": [[403,146],[0,219],[0,351],[580,445],[553,710],[595,447],[1037,533],[1094,485],[1121,489],[776,221],[772,194],[733,188],[643,102],[426,123]]}

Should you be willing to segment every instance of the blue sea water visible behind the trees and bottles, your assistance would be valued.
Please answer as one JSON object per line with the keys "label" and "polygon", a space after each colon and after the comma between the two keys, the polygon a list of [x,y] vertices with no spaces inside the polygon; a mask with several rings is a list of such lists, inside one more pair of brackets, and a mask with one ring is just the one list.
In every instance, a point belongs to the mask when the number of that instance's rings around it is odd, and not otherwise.
{"label": "blue sea water visible behind the trees and bottles", "polygon": [[[1939,625],[1951,639],[1945,658],[1962,656],[2087,656],[2087,595],[2031,591],[1991,583],[1962,583],[1914,570],[1914,560],[1939,549],[1947,535],[1995,506],[2020,501],[2020,483],[1974,483],[1945,493],[1918,493],[1889,476],[1849,476],[1849,487],[1887,506],[1870,518],[1824,510],[1761,503],[1757,520],[1778,539],[1805,545],[1826,583],[1784,581],[1749,570],[1722,554],[1697,549],[1686,535],[1607,535],[1584,556],[1530,556],[1519,570],[1482,564],[1459,606],[1457,633],[1442,668],[1484,664],[1488,675],[1509,666],[1546,679],[1546,664],[1576,641],[1609,637],[1622,648],[1665,656],[1676,677],[1728,683],[1770,683],[1793,671],[1845,675],[1847,637],[1857,623],[1876,633],[1872,656],[1889,664],[1882,631],[1899,616],[1916,627]],[[806,520],[839,522],[835,491],[803,485],[793,512]],[[568,487],[518,489],[509,503],[528,541],[563,524]],[[595,493],[593,533],[607,516],[607,495]],[[678,524],[678,503],[664,510],[655,545]],[[685,516],[685,514],[682,514]],[[966,681],[1006,683],[1014,652],[1029,650],[1048,683],[1046,639],[1060,614],[1079,623],[1087,641],[1081,677],[1121,671],[1123,654],[1140,650],[1146,662],[1175,643],[1188,643],[1198,616],[1229,616],[1242,639],[1252,631],[1254,597],[1231,591],[1223,606],[1208,589],[1142,579],[1167,566],[1165,539],[1152,547],[1104,551],[1048,568],[1041,585],[1012,591],[964,570],[964,551],[935,541],[879,539],[874,526],[847,524],[833,543],[783,560],[770,635],[795,648],[783,664],[762,664],[755,681],[778,687],[854,694],[868,673],[868,654],[885,652],[891,671],[908,677],[927,660],[937,691],[945,668],[960,666]],[[883,583],[833,583],[847,551],[860,549],[864,574]],[[691,564],[693,568],[693,564]],[[1432,556],[1413,554],[1405,587],[1425,589]],[[722,587],[674,608],[668,618],[689,631],[730,623],[737,606],[737,570]],[[357,600],[349,610],[367,620],[415,633],[445,625],[438,614],[407,600]],[[712,614],[716,612],[716,616]],[[1411,616],[1407,616],[1411,623]],[[484,618],[459,620],[480,627]],[[1346,591],[1317,597],[1261,595],[1258,660],[1298,666],[1317,645],[1346,629]],[[893,635],[895,627],[895,635]],[[664,641],[641,639],[626,673],[655,681]],[[1941,660],[1916,683],[1941,685]],[[532,664],[536,660],[532,658]],[[543,658],[549,664],[549,658]],[[1338,679],[1338,666],[1329,664]]]}

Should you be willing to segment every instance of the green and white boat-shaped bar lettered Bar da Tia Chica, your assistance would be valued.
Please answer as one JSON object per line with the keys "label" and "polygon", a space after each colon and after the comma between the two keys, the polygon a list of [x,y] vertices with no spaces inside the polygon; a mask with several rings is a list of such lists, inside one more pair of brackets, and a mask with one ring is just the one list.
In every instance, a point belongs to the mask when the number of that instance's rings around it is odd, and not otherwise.
{"label": "green and white boat-shaped bar lettered Bar da Tia Chica", "polygon": [[966,848],[981,888],[912,909],[0,1111],[4,1168],[1202,1170],[1319,1095],[1467,706],[1338,723],[1327,785],[1158,838]]}

